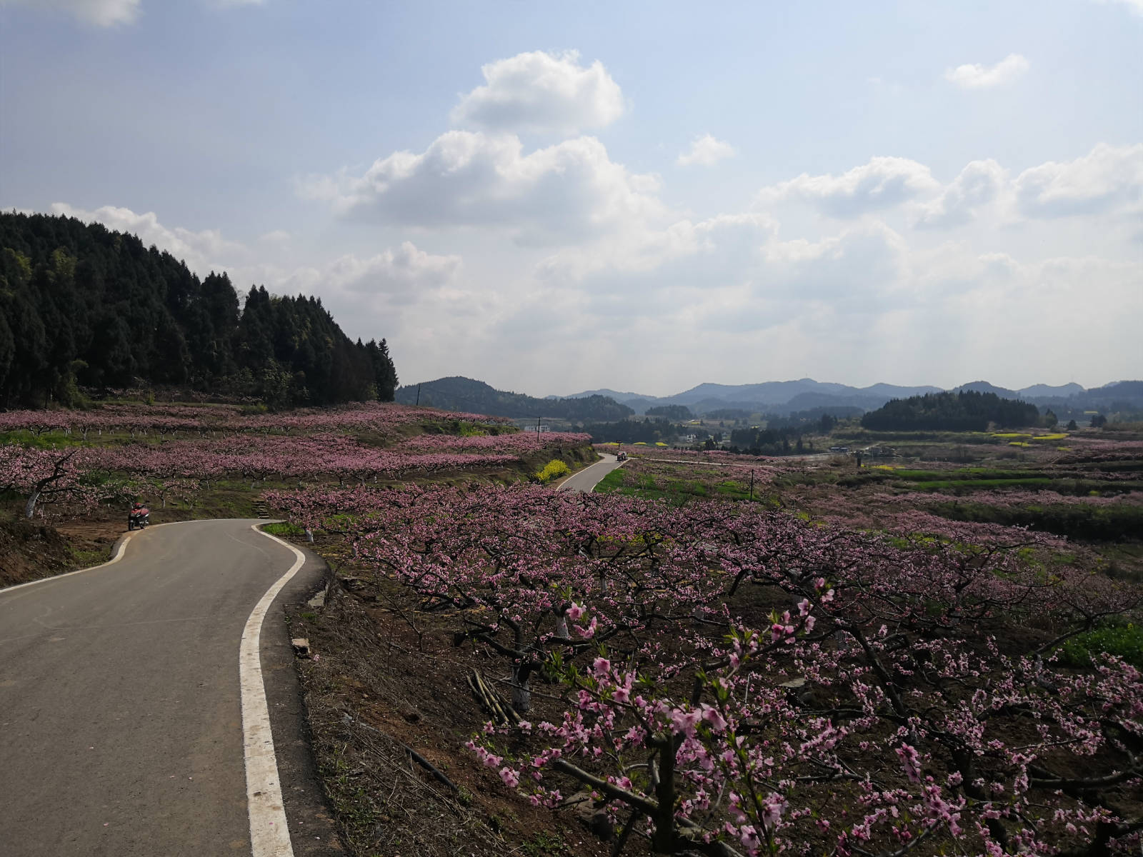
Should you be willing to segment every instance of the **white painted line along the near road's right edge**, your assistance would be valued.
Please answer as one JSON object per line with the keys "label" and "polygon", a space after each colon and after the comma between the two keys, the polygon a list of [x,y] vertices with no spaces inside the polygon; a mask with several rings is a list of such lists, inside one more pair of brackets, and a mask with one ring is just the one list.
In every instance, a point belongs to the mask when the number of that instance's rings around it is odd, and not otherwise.
{"label": "white painted line along the near road's right edge", "polygon": [[246,803],[250,816],[250,854],[253,857],[294,857],[294,846],[286,823],[286,807],[282,803],[282,787],[278,778],[278,756],[274,755],[274,739],[270,731],[270,708],[266,705],[266,689],[262,681],[262,622],[270,604],[289,583],[298,569],[305,564],[305,554],[288,542],[258,529],[259,521],[250,529],[261,532],[294,552],[297,559],[289,571],[278,578],[262,600],[255,606],[250,618],[242,628],[242,642],[238,650],[238,680],[242,691],[242,743],[246,756]]}

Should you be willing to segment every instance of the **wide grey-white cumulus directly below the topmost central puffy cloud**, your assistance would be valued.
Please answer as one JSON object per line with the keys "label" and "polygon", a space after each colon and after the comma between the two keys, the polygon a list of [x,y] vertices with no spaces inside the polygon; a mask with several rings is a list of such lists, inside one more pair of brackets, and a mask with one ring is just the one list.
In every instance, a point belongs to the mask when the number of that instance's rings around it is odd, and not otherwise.
{"label": "wide grey-white cumulus directly below the topmost central puffy cloud", "polygon": [[632,174],[594,137],[529,154],[514,135],[447,131],[424,152],[395,152],[360,177],[302,183],[347,217],[381,223],[497,226],[530,245],[576,243],[602,231],[661,216],[658,178]]}

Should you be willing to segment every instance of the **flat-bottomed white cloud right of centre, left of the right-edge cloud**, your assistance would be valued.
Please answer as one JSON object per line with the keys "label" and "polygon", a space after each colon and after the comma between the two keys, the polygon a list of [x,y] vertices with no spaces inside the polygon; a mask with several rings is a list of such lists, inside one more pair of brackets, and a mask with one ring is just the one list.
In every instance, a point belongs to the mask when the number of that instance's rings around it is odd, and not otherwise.
{"label": "flat-bottomed white cloud right of centre, left of the right-edge cloud", "polygon": [[789,182],[764,187],[758,203],[801,201],[830,217],[850,218],[930,194],[940,186],[924,163],[879,157],[840,176],[802,173]]}

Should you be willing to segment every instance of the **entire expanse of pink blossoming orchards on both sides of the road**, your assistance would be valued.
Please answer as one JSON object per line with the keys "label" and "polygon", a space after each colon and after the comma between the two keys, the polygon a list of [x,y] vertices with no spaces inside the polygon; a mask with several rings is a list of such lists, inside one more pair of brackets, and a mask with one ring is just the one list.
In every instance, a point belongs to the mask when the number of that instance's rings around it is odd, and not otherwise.
{"label": "entire expanse of pink blossoming orchards on both sides of the road", "polygon": [[594,458],[588,435],[423,408],[0,432],[29,516],[256,491],[418,638],[487,664],[506,698],[472,679],[457,746],[522,806],[586,802],[613,855],[1143,848],[1143,659],[1097,642],[1138,640],[1137,441],[986,472],[642,448],[578,494],[538,474]]}

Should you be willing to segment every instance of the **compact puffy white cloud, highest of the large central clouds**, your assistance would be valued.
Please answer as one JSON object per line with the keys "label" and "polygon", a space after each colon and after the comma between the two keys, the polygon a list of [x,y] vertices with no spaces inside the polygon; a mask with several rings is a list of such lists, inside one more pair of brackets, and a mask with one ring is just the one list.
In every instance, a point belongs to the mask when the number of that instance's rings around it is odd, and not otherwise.
{"label": "compact puffy white cloud, highest of the large central clouds", "polygon": [[454,126],[489,131],[561,135],[602,128],[623,114],[623,93],[598,59],[580,64],[574,50],[533,51],[481,67],[485,86],[461,98]]}

